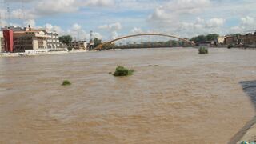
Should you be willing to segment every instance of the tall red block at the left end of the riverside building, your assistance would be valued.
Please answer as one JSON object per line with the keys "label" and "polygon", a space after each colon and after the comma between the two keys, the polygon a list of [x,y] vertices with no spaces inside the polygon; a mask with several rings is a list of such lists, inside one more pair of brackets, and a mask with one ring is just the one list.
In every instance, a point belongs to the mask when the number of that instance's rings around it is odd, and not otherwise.
{"label": "tall red block at the left end of the riverside building", "polygon": [[14,52],[14,31],[3,30],[3,38],[5,39],[5,50],[6,52]]}

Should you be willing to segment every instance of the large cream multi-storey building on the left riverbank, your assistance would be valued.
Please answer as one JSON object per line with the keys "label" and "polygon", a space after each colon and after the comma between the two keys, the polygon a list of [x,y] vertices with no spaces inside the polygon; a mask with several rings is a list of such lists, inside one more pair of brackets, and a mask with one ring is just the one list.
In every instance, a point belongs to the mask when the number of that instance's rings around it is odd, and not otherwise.
{"label": "large cream multi-storey building on the left riverbank", "polygon": [[[11,51],[7,49],[2,52],[47,52],[50,50],[66,50],[66,45],[62,45],[58,39],[58,33],[50,32],[46,29],[33,29],[28,27],[5,27],[2,28],[6,33],[10,32],[12,38],[6,38],[5,43],[13,44]],[[6,51],[7,50],[7,51]]]}

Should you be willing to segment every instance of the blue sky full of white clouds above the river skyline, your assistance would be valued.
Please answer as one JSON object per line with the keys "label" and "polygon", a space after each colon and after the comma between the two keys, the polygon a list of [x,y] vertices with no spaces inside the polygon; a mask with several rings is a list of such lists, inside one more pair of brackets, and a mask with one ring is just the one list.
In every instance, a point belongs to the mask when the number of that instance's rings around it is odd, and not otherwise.
{"label": "blue sky full of white clouds above the river skyline", "polygon": [[142,32],[191,38],[256,30],[256,0],[0,1],[1,26],[30,24],[78,38],[88,38],[90,30],[105,40]]}

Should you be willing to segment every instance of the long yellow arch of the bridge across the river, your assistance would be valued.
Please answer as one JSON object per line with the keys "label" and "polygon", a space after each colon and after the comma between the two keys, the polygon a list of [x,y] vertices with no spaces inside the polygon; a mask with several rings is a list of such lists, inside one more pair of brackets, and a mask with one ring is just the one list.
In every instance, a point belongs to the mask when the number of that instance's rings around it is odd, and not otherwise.
{"label": "long yellow arch of the bridge across the river", "polygon": [[114,40],[111,40],[110,42],[104,42],[100,46],[94,48],[94,50],[102,50],[104,45],[111,44],[113,42],[117,42],[121,39],[134,38],[134,37],[140,37],[140,36],[162,36],[162,37],[168,37],[168,38],[176,38],[180,41],[187,42],[187,43],[190,43],[192,46],[195,46],[194,42],[191,42],[191,41],[189,41],[187,39],[184,39],[184,38],[178,38],[177,36],[169,35],[169,34],[133,34],[133,35],[124,36],[124,37],[121,37],[121,38],[116,38]]}

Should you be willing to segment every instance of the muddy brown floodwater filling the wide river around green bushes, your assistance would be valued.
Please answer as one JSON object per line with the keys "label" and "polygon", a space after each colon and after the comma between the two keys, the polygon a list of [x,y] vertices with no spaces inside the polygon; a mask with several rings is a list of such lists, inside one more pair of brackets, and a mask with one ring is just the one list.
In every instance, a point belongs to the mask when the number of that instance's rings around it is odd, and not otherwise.
{"label": "muddy brown floodwater filling the wide river around green bushes", "polygon": [[253,80],[256,50],[0,58],[0,143],[226,143],[254,117]]}

